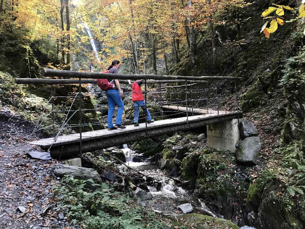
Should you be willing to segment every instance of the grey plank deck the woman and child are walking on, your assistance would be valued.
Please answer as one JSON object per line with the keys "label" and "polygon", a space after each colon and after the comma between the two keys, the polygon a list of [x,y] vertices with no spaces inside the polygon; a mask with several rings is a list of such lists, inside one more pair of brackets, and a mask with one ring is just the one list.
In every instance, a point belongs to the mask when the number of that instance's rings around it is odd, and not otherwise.
{"label": "grey plank deck the woman and child are walking on", "polygon": [[[181,107],[179,107],[180,109]],[[217,122],[217,118],[224,117],[224,116],[230,116],[230,115],[237,115],[241,114],[241,112],[226,112],[226,111],[220,111],[219,115],[217,115],[217,111],[211,111],[209,110],[209,114],[203,114],[203,115],[194,115],[189,116],[188,121],[186,117],[182,118],[170,118],[170,119],[164,119],[155,121],[151,124],[147,125],[148,129],[154,129],[154,128],[160,128],[160,127],[166,127],[166,126],[172,126],[172,125],[179,125],[189,122],[198,122],[205,119],[215,119],[213,122]],[[198,126],[199,127],[199,126]],[[118,136],[123,135],[131,132],[138,132],[145,130],[145,123],[140,123],[139,126],[134,125],[127,125],[126,129],[116,129],[109,131],[108,129],[102,129],[102,130],[96,130],[96,131],[90,131],[90,132],[84,132],[82,133],[82,142],[94,140],[94,139],[101,139],[101,138],[107,138],[110,136]],[[162,134],[162,133],[160,133]],[[29,144],[38,145],[41,148],[49,148],[51,145],[52,147],[55,146],[61,146],[66,144],[73,144],[80,142],[80,134],[69,134],[69,135],[62,135],[59,136],[56,141],[54,142],[53,137],[51,138],[45,138],[40,139],[36,141],[31,141]]]}

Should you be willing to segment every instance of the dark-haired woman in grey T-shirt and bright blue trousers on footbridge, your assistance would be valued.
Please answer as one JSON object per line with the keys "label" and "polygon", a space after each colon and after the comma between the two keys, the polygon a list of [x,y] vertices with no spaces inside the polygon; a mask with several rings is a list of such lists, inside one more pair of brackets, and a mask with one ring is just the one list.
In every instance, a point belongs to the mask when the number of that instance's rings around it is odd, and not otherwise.
{"label": "dark-haired woman in grey T-shirt and bright blue trousers on footbridge", "polygon": [[[120,61],[119,60],[113,60],[111,65],[108,67],[107,70],[109,70],[110,74],[118,74],[118,69],[120,68]],[[109,76],[108,82],[113,81],[113,78]],[[108,123],[108,130],[113,130],[113,129],[124,129],[126,126],[122,125],[122,115],[124,111],[124,103],[122,100],[123,96],[123,91],[120,87],[119,80],[114,79],[114,84],[113,88],[109,88],[106,90],[106,96],[108,100],[108,118],[107,118],[107,123]],[[117,110],[117,120],[116,120],[116,125],[113,125],[112,122],[112,116],[114,112],[114,106],[118,106]]]}

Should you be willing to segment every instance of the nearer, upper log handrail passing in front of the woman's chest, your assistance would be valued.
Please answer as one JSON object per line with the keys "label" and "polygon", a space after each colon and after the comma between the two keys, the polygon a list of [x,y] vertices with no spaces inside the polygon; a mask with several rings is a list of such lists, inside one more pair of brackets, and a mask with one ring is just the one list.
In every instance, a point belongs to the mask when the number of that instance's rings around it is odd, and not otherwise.
{"label": "nearer, upper log handrail passing in front of the woman's chest", "polygon": [[[82,72],[82,71],[65,71],[56,69],[43,69],[44,76],[58,76],[66,78],[86,78],[86,79],[103,79],[109,78],[109,73],[98,72]],[[154,80],[209,80],[209,79],[228,79],[228,80],[243,80],[242,77],[234,76],[179,76],[179,75],[128,75],[128,74],[111,74],[111,78],[115,79],[154,79]]]}

